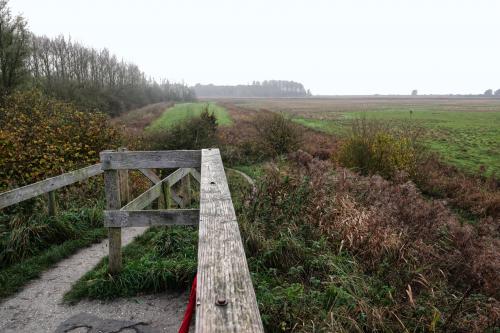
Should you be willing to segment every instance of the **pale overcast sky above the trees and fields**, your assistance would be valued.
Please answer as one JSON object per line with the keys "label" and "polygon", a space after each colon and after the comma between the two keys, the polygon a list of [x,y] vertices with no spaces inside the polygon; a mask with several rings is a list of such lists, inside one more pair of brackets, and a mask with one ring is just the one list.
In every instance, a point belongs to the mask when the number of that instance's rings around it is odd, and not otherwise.
{"label": "pale overcast sky above the trees and fields", "polygon": [[285,79],[315,94],[500,89],[497,0],[11,0],[39,35],[188,84]]}

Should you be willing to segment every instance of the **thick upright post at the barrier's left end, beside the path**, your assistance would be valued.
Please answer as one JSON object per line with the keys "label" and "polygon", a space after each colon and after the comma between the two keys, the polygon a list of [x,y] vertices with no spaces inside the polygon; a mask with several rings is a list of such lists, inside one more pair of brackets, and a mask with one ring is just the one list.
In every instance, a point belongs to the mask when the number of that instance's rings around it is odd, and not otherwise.
{"label": "thick upright post at the barrier's left end, beside the path", "polygon": [[[117,170],[104,171],[104,188],[106,191],[106,209],[120,209],[120,177]],[[122,268],[122,229],[108,228],[108,237],[109,273],[116,274]]]}

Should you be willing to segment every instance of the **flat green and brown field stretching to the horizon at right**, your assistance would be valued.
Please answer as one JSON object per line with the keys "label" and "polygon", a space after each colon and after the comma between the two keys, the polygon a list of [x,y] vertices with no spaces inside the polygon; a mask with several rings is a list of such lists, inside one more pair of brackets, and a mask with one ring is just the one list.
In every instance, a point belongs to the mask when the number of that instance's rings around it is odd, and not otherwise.
{"label": "flat green and brown field stretching to the horizon at right", "polygon": [[[250,109],[285,112],[320,131],[346,135],[353,119],[413,123],[425,130],[427,146],[468,171],[500,174],[500,99],[313,98],[232,100]],[[411,112],[410,112],[411,111]]]}

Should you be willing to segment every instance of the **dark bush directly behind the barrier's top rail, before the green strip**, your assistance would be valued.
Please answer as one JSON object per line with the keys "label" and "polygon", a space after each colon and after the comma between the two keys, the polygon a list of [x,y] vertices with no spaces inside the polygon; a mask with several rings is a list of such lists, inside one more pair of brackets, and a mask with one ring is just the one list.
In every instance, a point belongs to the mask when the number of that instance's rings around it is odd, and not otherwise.
{"label": "dark bush directly behind the barrier's top rail, before the green strip", "polygon": [[217,145],[217,118],[208,106],[199,117],[179,122],[168,129],[160,129],[146,135],[146,149],[203,149]]}

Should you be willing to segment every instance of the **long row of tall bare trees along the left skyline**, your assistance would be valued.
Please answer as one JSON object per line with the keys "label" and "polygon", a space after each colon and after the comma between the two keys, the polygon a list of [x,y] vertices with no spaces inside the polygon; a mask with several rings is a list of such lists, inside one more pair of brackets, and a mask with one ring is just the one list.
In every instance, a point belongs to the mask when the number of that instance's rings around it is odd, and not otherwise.
{"label": "long row of tall bare trees along the left skyline", "polygon": [[35,87],[112,116],[150,103],[195,98],[186,85],[148,78],[107,49],[32,34],[22,16],[12,16],[7,0],[0,0],[0,80],[3,96]]}

